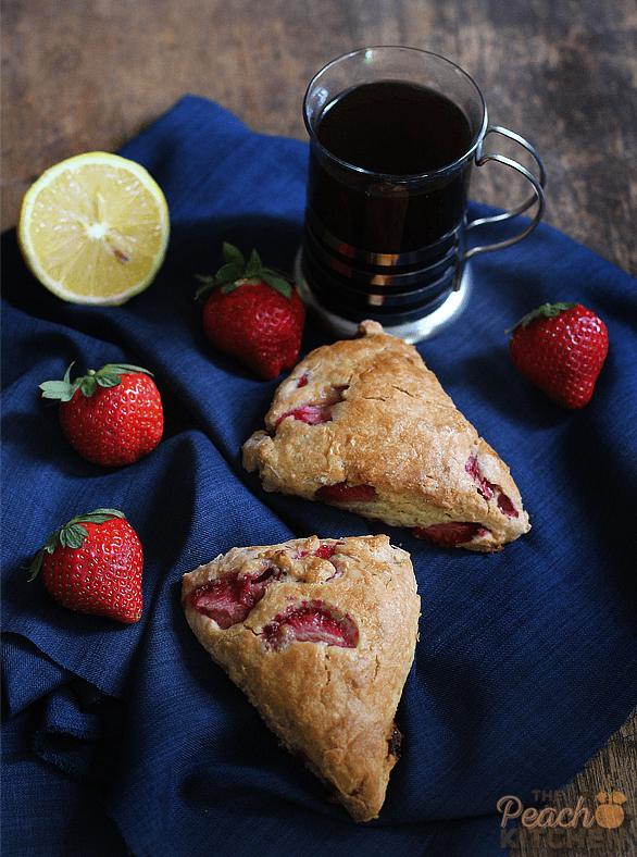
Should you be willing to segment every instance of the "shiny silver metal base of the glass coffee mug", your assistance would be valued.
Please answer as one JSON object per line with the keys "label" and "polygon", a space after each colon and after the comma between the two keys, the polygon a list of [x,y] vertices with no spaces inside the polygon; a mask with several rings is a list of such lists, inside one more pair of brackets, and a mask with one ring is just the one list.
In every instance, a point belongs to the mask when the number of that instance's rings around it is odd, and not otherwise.
{"label": "shiny silver metal base of the glass coffee mug", "polygon": [[[302,263],[303,248],[301,247],[295,261],[295,280],[299,295],[305,303],[308,312],[327,333],[338,339],[353,338],[358,333],[359,321],[370,319],[378,321],[386,333],[398,336],[410,345],[414,345],[436,335],[454,322],[466,309],[472,291],[471,265],[466,263],[458,288],[450,290],[442,302],[432,307],[429,311],[426,308],[421,309],[420,318],[417,319],[401,321],[399,315],[380,315],[374,313],[373,309],[370,308],[369,312],[361,313],[360,320],[352,320],[351,313],[349,318],[346,318],[321,303],[308,284],[303,274]],[[363,315],[364,319],[362,318]]]}

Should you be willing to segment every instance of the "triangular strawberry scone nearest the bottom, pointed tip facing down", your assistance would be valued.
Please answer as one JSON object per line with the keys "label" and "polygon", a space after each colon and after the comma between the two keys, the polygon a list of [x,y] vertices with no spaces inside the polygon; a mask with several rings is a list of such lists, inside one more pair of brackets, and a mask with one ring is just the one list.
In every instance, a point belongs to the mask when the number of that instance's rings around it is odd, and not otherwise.
{"label": "triangular strawberry scone nearest the bottom, pointed tip facing down", "polygon": [[182,603],[282,744],[355,821],[375,818],[417,636],[409,554],[386,535],[233,548],[184,575]]}

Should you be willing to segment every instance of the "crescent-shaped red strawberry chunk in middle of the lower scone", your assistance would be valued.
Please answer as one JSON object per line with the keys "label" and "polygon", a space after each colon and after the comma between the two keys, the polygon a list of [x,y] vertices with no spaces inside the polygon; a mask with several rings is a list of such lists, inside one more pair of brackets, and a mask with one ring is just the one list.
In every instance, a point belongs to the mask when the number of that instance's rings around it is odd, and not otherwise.
{"label": "crescent-shaped red strawberry chunk in middle of the lower scone", "polygon": [[338,617],[323,601],[303,601],[275,616],[263,629],[263,638],[277,651],[290,643],[326,643],[328,646],[354,648],[359,630],[349,616]]}

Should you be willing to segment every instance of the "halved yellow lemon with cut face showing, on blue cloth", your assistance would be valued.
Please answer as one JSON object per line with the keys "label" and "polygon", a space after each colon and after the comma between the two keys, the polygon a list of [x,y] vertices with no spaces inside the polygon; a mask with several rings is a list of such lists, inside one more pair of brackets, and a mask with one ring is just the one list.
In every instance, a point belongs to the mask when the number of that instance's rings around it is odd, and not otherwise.
{"label": "halved yellow lemon with cut face showing, on blue cloth", "polygon": [[124,303],[147,288],[166,253],[168,207],[135,161],[86,152],[27,190],[17,227],[35,276],[63,300]]}

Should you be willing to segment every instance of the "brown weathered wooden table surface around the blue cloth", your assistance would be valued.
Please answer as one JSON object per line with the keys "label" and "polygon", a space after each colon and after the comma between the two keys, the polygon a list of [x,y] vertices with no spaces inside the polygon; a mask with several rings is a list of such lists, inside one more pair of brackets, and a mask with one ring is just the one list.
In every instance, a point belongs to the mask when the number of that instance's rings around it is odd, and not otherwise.
{"label": "brown weathered wooden table surface around the blue cloth", "polygon": [[[388,44],[465,69],[491,121],[540,152],[545,221],[637,276],[635,0],[5,0],[2,229],[46,167],[116,150],[185,94],[215,100],[254,131],[305,139],[312,75],[340,53]],[[508,204],[516,192],[508,171],[478,172],[473,197]],[[637,709],[551,796],[596,806],[602,784],[622,791],[630,833],[612,857],[637,854],[636,733]],[[538,834],[516,844],[521,857],[560,847]],[[600,848],[562,841],[560,854]]]}

